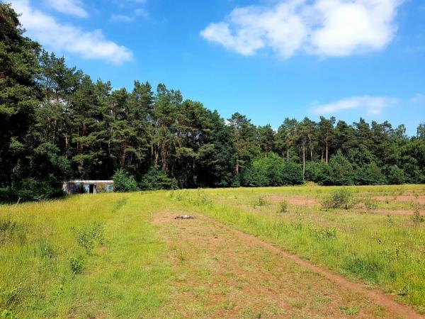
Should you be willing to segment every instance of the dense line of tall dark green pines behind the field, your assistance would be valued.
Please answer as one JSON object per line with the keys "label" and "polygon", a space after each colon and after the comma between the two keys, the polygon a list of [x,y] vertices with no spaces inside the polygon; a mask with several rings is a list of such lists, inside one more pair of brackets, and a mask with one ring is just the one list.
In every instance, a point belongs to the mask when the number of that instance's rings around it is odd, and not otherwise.
{"label": "dense line of tall dark green pines behind the field", "polygon": [[425,124],[414,137],[363,118],[285,118],[273,130],[164,84],[113,89],[25,37],[0,3],[1,196],[57,196],[67,179],[117,172],[140,189],[423,183]]}

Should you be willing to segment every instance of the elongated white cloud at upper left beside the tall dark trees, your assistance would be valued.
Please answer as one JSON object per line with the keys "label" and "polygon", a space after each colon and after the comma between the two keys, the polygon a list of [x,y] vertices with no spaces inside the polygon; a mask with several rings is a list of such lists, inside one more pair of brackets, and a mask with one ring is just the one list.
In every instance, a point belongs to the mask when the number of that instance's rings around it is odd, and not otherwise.
{"label": "elongated white cloud at upper left beside the tall dark trees", "polygon": [[132,60],[132,52],[127,47],[107,40],[101,30],[84,31],[76,26],[59,23],[53,16],[33,9],[28,0],[13,0],[12,6],[16,12],[22,13],[20,21],[28,36],[52,50],[114,64]]}

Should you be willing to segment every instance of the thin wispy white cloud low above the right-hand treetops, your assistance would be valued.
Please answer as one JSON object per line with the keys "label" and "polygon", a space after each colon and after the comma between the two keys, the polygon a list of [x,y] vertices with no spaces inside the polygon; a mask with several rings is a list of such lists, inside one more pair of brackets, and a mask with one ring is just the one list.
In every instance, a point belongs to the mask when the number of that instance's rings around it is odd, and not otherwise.
{"label": "thin wispy white cloud low above the right-hand treetops", "polygon": [[353,96],[334,103],[314,106],[311,111],[315,114],[329,114],[352,109],[363,109],[366,114],[374,116],[382,114],[385,108],[395,103],[397,103],[397,99],[386,96]]}

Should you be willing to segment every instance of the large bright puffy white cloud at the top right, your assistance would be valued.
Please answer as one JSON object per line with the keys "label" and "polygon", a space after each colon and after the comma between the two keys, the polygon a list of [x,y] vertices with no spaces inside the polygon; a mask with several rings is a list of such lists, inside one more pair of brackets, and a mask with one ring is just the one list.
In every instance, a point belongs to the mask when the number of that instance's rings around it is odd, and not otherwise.
{"label": "large bright puffy white cloud at the top right", "polygon": [[283,58],[297,50],[346,56],[380,50],[390,43],[402,1],[280,0],[272,6],[236,8],[200,35],[242,55],[270,48]]}

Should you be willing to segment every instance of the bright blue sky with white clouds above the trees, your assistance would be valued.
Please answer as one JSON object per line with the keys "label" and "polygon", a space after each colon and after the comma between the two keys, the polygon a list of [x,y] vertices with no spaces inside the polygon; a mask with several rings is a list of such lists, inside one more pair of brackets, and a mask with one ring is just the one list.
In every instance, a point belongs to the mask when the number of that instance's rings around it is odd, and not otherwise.
{"label": "bright blue sky with white clouds above the trees", "polygon": [[[9,0],[11,1],[11,0]],[[228,118],[425,121],[422,0],[12,0],[93,79],[163,82]]]}

